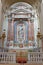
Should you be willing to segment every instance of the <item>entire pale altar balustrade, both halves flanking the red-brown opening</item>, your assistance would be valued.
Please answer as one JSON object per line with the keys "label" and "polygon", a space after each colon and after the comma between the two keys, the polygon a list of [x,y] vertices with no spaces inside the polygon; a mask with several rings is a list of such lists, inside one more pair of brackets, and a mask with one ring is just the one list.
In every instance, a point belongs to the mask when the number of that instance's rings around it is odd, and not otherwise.
{"label": "entire pale altar balustrade, both halves flanking the red-brown opening", "polygon": [[[27,63],[43,63],[43,52],[29,52]],[[16,63],[16,52],[0,52],[0,63]]]}

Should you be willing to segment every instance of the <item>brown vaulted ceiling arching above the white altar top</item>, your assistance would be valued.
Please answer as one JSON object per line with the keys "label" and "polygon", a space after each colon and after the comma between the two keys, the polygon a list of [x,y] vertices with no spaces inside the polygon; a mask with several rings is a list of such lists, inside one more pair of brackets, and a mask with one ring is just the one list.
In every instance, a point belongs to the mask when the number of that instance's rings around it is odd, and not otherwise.
{"label": "brown vaulted ceiling arching above the white altar top", "polygon": [[37,8],[38,3],[41,3],[41,0],[1,0],[3,4],[3,9],[8,9],[12,4],[17,2],[26,2],[29,3],[32,6],[35,6]]}

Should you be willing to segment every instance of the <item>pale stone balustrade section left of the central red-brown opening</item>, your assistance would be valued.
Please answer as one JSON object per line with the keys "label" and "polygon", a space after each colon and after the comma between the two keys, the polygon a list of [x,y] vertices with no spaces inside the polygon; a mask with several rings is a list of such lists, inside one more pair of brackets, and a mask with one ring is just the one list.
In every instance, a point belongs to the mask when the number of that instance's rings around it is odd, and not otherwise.
{"label": "pale stone balustrade section left of the central red-brown opening", "polygon": [[0,52],[0,63],[15,63],[16,53]]}

